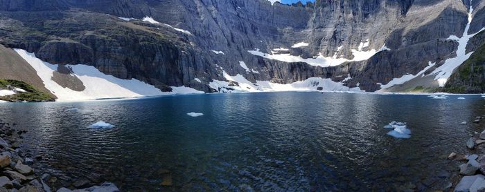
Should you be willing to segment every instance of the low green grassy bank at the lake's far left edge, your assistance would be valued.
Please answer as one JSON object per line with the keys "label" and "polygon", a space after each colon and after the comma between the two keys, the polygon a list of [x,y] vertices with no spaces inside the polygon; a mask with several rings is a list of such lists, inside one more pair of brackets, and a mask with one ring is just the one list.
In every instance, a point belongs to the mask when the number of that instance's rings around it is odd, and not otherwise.
{"label": "low green grassy bank at the lake's far left edge", "polygon": [[26,84],[24,81],[0,79],[0,90],[8,89],[9,87],[21,88],[26,90],[24,93],[16,93],[0,97],[0,100],[8,102],[53,102],[54,98],[47,93],[37,90],[33,86]]}

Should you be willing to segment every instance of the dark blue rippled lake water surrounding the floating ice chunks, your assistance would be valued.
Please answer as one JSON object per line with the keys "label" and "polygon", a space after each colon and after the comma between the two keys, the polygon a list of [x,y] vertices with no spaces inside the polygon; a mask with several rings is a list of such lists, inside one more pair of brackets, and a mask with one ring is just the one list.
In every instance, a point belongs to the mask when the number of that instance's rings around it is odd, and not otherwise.
{"label": "dark blue rippled lake water surrounding the floating ice chunks", "polygon": [[[484,104],[480,95],[206,94],[0,104],[0,119],[28,130],[22,147],[44,157],[37,171],[66,184],[97,173],[121,191],[394,191],[409,182],[427,191],[457,172],[448,154],[471,153],[465,142],[482,130],[459,123],[485,115]],[[87,128],[98,121],[116,127]],[[407,122],[412,137],[387,135],[392,121]]]}

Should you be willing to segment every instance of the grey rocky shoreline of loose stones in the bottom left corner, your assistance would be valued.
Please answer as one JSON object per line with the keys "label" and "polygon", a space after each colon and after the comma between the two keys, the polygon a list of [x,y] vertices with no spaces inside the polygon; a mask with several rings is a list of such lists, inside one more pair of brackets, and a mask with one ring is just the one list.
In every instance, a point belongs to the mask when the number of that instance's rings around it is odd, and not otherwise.
{"label": "grey rocky shoreline of loose stones in the bottom left corner", "polygon": [[96,181],[99,185],[81,189],[91,182],[76,180],[69,186],[59,187],[54,183],[58,178],[48,173],[38,173],[33,169],[36,162],[42,160],[42,155],[32,156],[23,151],[20,146],[26,130],[15,128],[16,124],[3,122],[0,119],[0,192],[68,192],[68,191],[120,191],[112,183]]}

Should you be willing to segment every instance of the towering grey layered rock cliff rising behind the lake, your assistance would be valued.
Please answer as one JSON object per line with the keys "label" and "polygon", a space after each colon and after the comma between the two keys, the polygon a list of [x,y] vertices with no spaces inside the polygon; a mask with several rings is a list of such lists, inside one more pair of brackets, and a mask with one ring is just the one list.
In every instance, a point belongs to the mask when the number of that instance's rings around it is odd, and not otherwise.
{"label": "towering grey layered rock cliff rising behind the lake", "polygon": [[[470,31],[477,32],[485,26],[485,3],[471,3]],[[376,91],[394,78],[416,75],[430,61],[436,64],[425,74],[454,57],[458,43],[448,37],[461,37],[469,6],[466,0],[317,0],[292,6],[265,0],[1,0],[0,43],[52,64],[88,64],[166,91],[190,86],[213,92],[209,83],[226,81],[224,72],[254,83],[321,77]],[[297,46],[301,42],[308,45]],[[346,62],[322,67],[249,50]],[[258,73],[248,73],[240,61]],[[428,78],[396,91],[416,86],[432,90],[438,84]]]}

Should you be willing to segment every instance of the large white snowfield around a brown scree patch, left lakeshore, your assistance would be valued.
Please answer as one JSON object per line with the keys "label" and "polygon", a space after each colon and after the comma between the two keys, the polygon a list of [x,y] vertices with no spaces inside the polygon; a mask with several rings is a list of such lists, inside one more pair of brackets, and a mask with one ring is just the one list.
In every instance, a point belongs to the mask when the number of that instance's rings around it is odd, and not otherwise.
{"label": "large white snowfield around a brown scree patch, left lakeshore", "polygon": [[82,91],[71,90],[70,88],[60,86],[53,80],[53,75],[58,70],[58,65],[49,64],[37,59],[33,53],[29,53],[26,50],[15,49],[15,51],[37,71],[37,75],[44,81],[46,88],[58,97],[57,101],[203,93],[186,87],[173,87],[173,92],[165,93],[155,88],[155,86],[145,84],[143,81],[137,79],[118,79],[112,75],[101,73],[94,66],[82,64],[67,65],[73,72],[71,75],[80,79],[85,86],[85,89]]}

